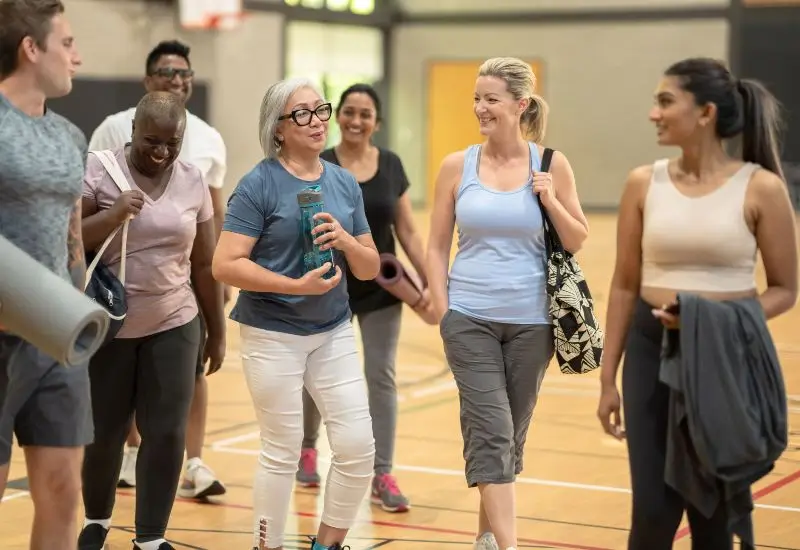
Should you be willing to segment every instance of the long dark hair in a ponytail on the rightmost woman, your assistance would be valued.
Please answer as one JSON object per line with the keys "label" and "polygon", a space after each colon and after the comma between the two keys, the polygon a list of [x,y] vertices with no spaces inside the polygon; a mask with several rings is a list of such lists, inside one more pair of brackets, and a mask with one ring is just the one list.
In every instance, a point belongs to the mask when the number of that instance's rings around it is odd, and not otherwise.
{"label": "long dark hair in a ponytail on the rightmost woman", "polygon": [[780,106],[769,90],[755,80],[735,79],[722,62],[706,57],[679,61],[664,74],[678,78],[698,105],[716,105],[717,135],[721,139],[740,137],[742,160],[759,164],[783,179]]}

